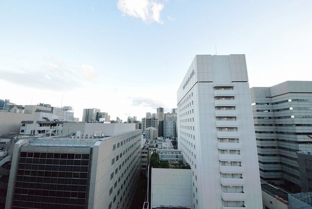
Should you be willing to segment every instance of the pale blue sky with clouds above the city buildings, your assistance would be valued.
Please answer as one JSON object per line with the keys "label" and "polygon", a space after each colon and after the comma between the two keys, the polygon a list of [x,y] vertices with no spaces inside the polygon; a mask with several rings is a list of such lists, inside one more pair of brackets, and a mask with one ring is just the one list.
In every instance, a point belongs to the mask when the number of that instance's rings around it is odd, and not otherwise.
{"label": "pale blue sky with clouds above the city buildings", "polygon": [[176,108],[197,54],[245,54],[250,87],[311,81],[311,11],[311,0],[0,1],[0,99],[140,120]]}

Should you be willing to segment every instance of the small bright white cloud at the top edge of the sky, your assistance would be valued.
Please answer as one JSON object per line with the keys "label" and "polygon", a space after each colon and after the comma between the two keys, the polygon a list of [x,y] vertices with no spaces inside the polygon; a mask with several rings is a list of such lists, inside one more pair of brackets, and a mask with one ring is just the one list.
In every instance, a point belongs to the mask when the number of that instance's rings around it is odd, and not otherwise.
{"label": "small bright white cloud at the top edge of the sky", "polygon": [[125,15],[141,18],[145,22],[162,23],[160,12],[164,4],[158,0],[118,0],[117,6]]}

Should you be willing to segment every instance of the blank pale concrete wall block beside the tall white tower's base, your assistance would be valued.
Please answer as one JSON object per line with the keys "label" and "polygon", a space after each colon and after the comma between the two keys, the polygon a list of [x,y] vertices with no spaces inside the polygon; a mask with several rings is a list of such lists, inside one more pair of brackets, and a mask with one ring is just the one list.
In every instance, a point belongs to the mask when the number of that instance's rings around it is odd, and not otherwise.
{"label": "blank pale concrete wall block beside the tall white tower's base", "polygon": [[192,207],[191,169],[152,168],[152,209],[164,207]]}

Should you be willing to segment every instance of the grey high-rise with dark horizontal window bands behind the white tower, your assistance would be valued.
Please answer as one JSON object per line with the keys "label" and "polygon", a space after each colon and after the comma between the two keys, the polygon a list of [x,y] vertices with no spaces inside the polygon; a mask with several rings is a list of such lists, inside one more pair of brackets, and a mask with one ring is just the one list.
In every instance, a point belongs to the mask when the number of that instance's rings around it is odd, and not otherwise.
{"label": "grey high-rise with dark horizontal window bands behind the white tower", "polygon": [[300,191],[297,151],[311,149],[312,82],[250,89],[260,177]]}

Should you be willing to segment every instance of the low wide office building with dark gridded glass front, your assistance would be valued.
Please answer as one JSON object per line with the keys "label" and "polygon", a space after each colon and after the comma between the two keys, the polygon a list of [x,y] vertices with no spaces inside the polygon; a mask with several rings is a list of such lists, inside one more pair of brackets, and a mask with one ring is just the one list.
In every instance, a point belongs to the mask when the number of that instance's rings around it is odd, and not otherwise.
{"label": "low wide office building with dark gridded glass front", "polygon": [[20,140],[5,208],[130,209],[139,180],[141,130],[104,125],[112,136]]}

